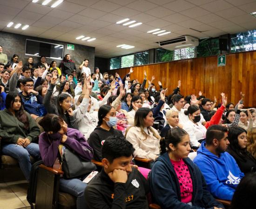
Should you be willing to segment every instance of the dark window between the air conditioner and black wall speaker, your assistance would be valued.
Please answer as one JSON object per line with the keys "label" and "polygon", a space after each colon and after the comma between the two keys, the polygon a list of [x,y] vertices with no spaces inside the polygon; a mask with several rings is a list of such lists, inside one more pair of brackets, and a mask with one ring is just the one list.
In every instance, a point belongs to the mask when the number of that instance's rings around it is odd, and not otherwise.
{"label": "dark window between the air conditioner and black wall speaker", "polygon": [[219,54],[219,39],[202,39],[196,46],[196,57],[207,57]]}

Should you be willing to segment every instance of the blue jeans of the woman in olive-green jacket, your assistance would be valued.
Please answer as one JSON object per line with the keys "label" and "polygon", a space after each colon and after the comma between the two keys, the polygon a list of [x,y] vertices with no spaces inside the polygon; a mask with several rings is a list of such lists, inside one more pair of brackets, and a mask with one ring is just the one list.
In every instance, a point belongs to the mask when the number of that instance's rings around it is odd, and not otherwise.
{"label": "blue jeans of the woman in olive-green jacket", "polygon": [[4,144],[2,146],[2,154],[9,155],[19,161],[20,169],[28,181],[31,170],[30,155],[40,159],[39,145],[35,143],[30,143],[25,148],[18,144]]}

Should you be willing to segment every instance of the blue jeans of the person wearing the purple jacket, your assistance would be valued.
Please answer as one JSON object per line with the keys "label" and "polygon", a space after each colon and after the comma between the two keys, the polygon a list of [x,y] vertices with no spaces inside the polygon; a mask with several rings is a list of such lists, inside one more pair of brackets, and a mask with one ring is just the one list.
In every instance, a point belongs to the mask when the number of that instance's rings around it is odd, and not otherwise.
{"label": "blue jeans of the person wearing the purple jacket", "polygon": [[85,179],[85,177],[81,180],[78,178],[60,179],[60,191],[76,197],[76,209],[85,208],[84,190],[87,187],[87,183],[83,183],[83,179]]}

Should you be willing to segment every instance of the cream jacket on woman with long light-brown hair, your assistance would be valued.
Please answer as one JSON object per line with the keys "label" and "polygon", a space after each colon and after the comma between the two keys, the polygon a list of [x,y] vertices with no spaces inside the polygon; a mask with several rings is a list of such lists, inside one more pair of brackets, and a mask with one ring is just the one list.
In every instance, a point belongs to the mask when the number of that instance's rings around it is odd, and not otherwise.
{"label": "cream jacket on woman with long light-brown hair", "polygon": [[[155,134],[158,138],[154,137],[153,133],[145,128],[144,131],[147,133],[147,139],[142,134],[141,129],[139,127],[131,127],[126,135],[126,139],[133,144],[135,149],[134,156],[141,158],[149,158],[155,160],[157,155],[160,154],[160,135],[155,131]],[[148,131],[147,131],[148,130]]]}

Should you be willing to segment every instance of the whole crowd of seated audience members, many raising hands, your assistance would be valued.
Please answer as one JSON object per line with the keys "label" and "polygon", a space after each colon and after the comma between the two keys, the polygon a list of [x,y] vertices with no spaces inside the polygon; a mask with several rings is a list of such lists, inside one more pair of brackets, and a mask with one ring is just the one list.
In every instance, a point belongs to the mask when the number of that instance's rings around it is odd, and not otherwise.
{"label": "whole crowd of seated audience members, many raising hands", "polygon": [[[61,176],[60,190],[76,197],[78,209],[148,208],[150,194],[162,209],[224,209],[215,198],[235,209],[255,177],[256,109],[242,110],[242,92],[236,105],[224,93],[217,104],[202,92],[184,97],[181,80],[168,94],[145,71],[138,81],[133,68],[121,78],[92,72],[88,59],[76,68],[70,54],[59,67],[45,56],[19,59],[8,61],[0,46],[1,155],[17,159],[27,181],[30,156],[58,169],[65,149],[101,162],[89,183],[88,173]],[[150,162],[146,174],[132,165],[141,158]]]}

